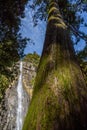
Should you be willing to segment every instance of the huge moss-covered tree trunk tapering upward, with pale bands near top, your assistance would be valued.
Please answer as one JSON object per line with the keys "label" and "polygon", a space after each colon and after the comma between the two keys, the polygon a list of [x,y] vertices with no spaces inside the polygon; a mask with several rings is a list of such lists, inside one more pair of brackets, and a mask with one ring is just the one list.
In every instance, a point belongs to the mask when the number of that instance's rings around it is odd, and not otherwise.
{"label": "huge moss-covered tree trunk tapering upward, with pale bands near top", "polygon": [[23,130],[87,130],[87,87],[56,0]]}

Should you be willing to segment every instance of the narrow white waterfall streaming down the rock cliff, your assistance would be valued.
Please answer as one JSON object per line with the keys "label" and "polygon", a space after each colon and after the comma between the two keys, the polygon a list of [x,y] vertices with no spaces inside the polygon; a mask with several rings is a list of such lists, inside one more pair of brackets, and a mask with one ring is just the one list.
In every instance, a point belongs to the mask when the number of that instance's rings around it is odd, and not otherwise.
{"label": "narrow white waterfall streaming down the rock cliff", "polygon": [[20,62],[20,75],[17,85],[18,106],[16,117],[16,130],[22,130],[22,98],[23,98],[23,86],[22,86],[22,62]]}

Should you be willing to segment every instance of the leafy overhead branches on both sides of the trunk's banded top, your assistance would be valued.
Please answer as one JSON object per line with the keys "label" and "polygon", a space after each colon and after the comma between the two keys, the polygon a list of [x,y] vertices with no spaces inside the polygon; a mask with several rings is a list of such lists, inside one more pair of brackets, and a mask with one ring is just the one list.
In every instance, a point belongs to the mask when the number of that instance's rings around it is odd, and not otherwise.
{"label": "leafy overhead branches on both sides of the trunk's banded top", "polygon": [[[33,15],[35,25],[39,19],[47,21],[49,2],[50,0],[33,0],[30,8],[35,11]],[[87,43],[87,33],[80,30],[81,26],[87,27],[84,18],[84,13],[87,13],[87,0],[58,0],[58,5],[71,34]]]}

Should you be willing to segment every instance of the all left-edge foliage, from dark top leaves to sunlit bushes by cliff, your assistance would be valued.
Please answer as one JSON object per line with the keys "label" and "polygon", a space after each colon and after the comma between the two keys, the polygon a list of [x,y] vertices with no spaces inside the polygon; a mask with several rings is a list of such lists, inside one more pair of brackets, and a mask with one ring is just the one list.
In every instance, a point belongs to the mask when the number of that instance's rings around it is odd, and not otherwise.
{"label": "all left-edge foliage, from dark top leaves to sunlit bushes by cliff", "polygon": [[19,33],[27,0],[0,0],[0,100],[13,73],[11,67],[21,57],[27,43]]}

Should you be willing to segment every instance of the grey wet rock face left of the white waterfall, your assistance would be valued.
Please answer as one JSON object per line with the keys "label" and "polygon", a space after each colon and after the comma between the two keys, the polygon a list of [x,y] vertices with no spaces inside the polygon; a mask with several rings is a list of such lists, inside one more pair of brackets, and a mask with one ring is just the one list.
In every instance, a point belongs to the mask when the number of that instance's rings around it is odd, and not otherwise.
{"label": "grey wet rock face left of the white waterfall", "polygon": [[[1,103],[1,121],[0,130],[14,130],[17,107],[16,84],[8,88]],[[4,108],[3,108],[4,107]]]}

